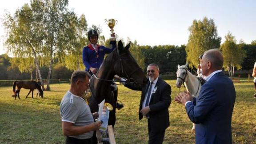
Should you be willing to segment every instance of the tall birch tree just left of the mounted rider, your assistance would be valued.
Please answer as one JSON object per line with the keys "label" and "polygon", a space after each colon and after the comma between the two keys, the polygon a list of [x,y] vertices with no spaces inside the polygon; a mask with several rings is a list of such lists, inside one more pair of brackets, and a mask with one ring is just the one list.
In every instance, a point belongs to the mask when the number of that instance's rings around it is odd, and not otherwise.
{"label": "tall birch tree just left of the mounted rider", "polygon": [[50,77],[54,56],[60,62],[64,61],[69,48],[72,46],[74,27],[72,22],[75,13],[68,10],[68,0],[44,0],[44,56],[49,58],[47,88],[50,90]]}

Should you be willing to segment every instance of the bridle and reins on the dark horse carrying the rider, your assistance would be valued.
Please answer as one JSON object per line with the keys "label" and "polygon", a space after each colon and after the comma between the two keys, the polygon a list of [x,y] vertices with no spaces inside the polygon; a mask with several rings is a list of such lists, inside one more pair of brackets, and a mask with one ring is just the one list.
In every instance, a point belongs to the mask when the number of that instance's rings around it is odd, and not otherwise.
{"label": "bridle and reins on the dark horse carrying the rider", "polygon": [[[118,49],[117,49],[118,50]],[[124,83],[124,84],[128,84],[128,83],[135,83],[136,80],[134,80],[133,78],[131,78],[132,74],[137,72],[138,70],[142,70],[140,67],[136,68],[135,70],[133,70],[130,75],[128,75],[128,72],[125,70],[124,68],[124,64],[123,64],[123,60],[122,60],[122,57],[121,56],[124,56],[128,53],[124,53],[124,54],[121,54],[119,55],[119,50],[117,51],[118,53],[118,58],[120,60],[120,70],[119,70],[119,74],[118,76],[121,76],[120,74],[124,74],[126,76],[126,78],[128,78],[127,80],[106,80],[106,79],[101,79],[99,77],[97,77],[95,74],[93,74],[93,76],[97,79],[97,80],[103,80],[103,81],[109,81],[109,82],[119,82],[120,84],[117,84],[117,85],[123,85],[121,83]]]}

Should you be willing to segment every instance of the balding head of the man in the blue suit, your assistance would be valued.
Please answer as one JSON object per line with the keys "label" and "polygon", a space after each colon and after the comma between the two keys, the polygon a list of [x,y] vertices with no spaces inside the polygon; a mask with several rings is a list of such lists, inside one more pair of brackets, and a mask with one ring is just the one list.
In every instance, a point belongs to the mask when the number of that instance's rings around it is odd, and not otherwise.
{"label": "balding head of the man in the blue suit", "polygon": [[218,49],[210,49],[204,52],[203,58],[206,61],[210,61],[212,63],[212,68],[215,70],[222,69],[223,67],[223,56],[220,50]]}

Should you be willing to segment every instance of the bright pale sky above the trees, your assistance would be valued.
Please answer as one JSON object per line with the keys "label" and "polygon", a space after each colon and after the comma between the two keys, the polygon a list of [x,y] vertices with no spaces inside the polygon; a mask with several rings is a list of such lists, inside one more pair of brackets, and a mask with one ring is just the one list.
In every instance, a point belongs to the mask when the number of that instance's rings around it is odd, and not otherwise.
{"label": "bright pale sky above the trees", "polygon": [[[30,0],[6,0],[0,5],[0,54],[4,47],[4,13],[14,14]],[[136,40],[140,45],[181,45],[188,43],[188,27],[193,20],[213,19],[218,36],[231,32],[237,42],[246,44],[256,40],[256,0],[69,0],[69,9],[77,16],[85,15],[92,24],[102,29],[101,35],[110,38],[105,19],[115,19],[114,32],[124,41]]]}

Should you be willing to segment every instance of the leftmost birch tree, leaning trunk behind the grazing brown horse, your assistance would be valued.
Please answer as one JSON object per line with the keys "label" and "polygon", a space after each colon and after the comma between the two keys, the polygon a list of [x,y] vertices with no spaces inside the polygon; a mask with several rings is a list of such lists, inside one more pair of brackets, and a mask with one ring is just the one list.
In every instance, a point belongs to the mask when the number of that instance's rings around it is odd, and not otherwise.
{"label": "leftmost birch tree, leaning trunk behind the grazing brown horse", "polygon": [[7,32],[5,44],[8,52],[21,59],[33,57],[40,80],[42,77],[37,57],[41,52],[44,38],[43,25],[40,21],[43,17],[42,12],[43,3],[40,0],[33,0],[30,6],[24,4],[22,8],[17,9],[14,16],[6,14],[3,23]]}

